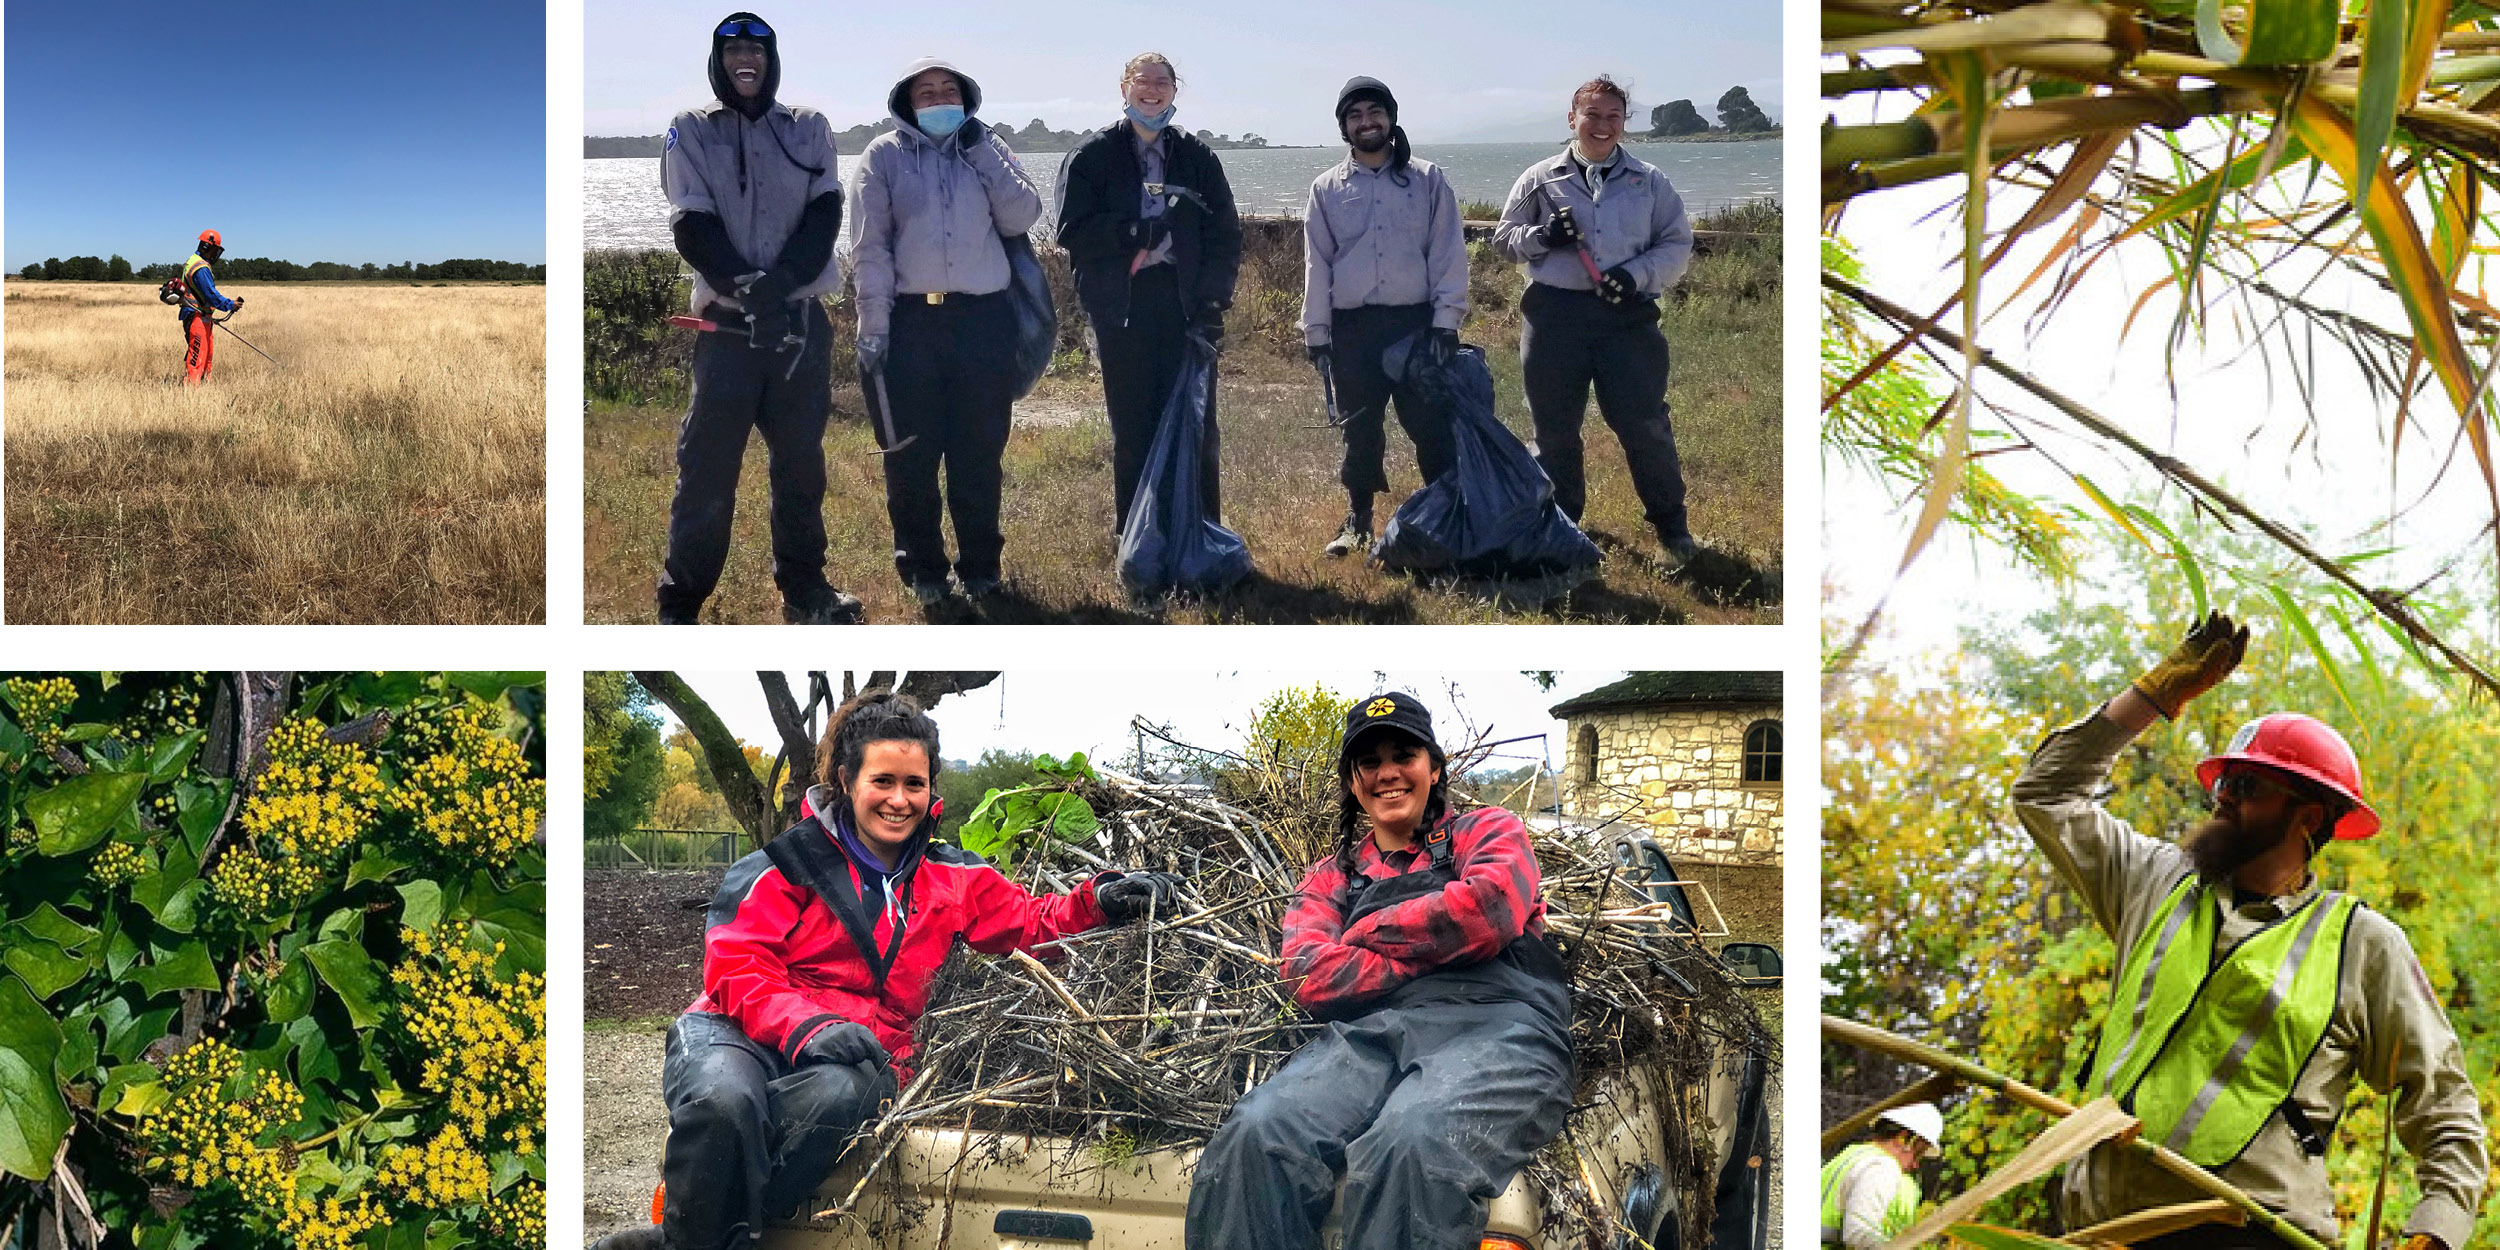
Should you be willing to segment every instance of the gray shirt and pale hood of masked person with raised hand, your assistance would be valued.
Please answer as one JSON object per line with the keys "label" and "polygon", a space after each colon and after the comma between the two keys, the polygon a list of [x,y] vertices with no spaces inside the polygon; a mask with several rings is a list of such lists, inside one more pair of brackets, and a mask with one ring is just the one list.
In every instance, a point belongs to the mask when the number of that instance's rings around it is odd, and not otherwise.
{"label": "gray shirt and pale hood of masked person with raised hand", "polygon": [[[945,70],[962,82],[962,130],[935,140],[910,108],[910,82]],[[990,295],[1008,290],[1002,235],[1042,220],[1042,198],[1015,152],[980,115],[980,85],[955,65],[922,58],[902,70],[885,108],[892,130],[860,152],[850,212],[850,262],[860,285],[860,332],[885,335],[895,295]],[[978,135],[978,138],[975,138]]]}

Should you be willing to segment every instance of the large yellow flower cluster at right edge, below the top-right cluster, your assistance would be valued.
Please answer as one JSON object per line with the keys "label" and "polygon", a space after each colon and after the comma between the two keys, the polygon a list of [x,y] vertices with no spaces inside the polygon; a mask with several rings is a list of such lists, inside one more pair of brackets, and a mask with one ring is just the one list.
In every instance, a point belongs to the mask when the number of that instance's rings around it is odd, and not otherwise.
{"label": "large yellow flower cluster at right edge, below the top-right cluster", "polygon": [[390,970],[400,1028],[425,1055],[418,1085],[440,1095],[468,1138],[530,1155],[548,1122],[548,978],[495,980],[495,955],[458,938],[402,930]]}

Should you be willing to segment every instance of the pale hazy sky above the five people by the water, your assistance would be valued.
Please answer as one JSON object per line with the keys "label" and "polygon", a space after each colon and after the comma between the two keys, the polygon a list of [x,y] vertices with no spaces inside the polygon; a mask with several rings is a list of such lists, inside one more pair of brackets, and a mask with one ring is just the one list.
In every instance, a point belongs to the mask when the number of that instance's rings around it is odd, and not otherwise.
{"label": "pale hazy sky above the five people by the water", "polygon": [[[702,58],[725,12],[718,0],[585,0],[582,132],[655,135],[708,100]],[[1628,78],[1642,115],[1678,98],[1710,115],[1730,85],[1780,110],[1780,5],[1760,0],[958,0],[755,12],[780,32],[782,100],[820,108],[838,128],[882,118],[902,65],[928,52],[980,80],[990,120],[1102,125],[1118,118],[1120,65],[1148,48],[1180,68],[1180,122],[1275,142],[1338,142],[1330,105],[1358,72],[1398,92],[1415,142],[1545,115],[1560,138],[1572,85],[1598,70]]]}

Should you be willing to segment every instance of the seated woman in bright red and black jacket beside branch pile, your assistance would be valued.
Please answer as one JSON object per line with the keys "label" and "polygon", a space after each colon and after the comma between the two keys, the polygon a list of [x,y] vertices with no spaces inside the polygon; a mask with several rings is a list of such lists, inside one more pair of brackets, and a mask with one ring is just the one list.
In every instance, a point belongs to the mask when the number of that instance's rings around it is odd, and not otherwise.
{"label": "seated woman in bright red and black jacket beside branch pile", "polygon": [[938,842],[938,722],[908,695],[845,702],[818,760],[802,820],[730,865],[705,912],[702,998],[660,1065],[660,1222],[600,1248],[745,1248],[808,1200],[910,1080],[912,1025],[958,938],[1055,958],[1045,942],[1180,902],[1170,872],[1035,898]]}

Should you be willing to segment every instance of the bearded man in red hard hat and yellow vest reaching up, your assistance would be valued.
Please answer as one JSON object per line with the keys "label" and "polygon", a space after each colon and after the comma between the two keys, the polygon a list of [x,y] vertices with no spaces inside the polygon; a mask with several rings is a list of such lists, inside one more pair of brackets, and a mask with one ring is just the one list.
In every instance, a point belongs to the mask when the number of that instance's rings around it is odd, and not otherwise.
{"label": "bearded man in red hard hat and yellow vest reaching up", "polygon": [[[2212,1170],[2282,1225],[2342,1245],[2325,1152],[2355,1080],[2390,1092],[2422,1192],[2402,1250],[2462,1250],[2490,1165],[2458,1032],[2392,920],[2318,882],[2312,858],[2370,838],[2360,760],[2300,712],[2240,725],[2198,762],[2212,815],[2178,842],[2102,808],[2110,768],[2155,718],[2178,720],[2248,652],[2212,612],[2170,655],[2048,735],[2015,780],[2015,815],[2118,942],[2108,1018],[2085,1072],[2142,1120],[2142,1138]],[[2145,1155],[2075,1160],[2058,1208],[2085,1228],[2202,1190]],[[2275,1250],[2265,1220],[2192,1225],[2140,1250]]]}

